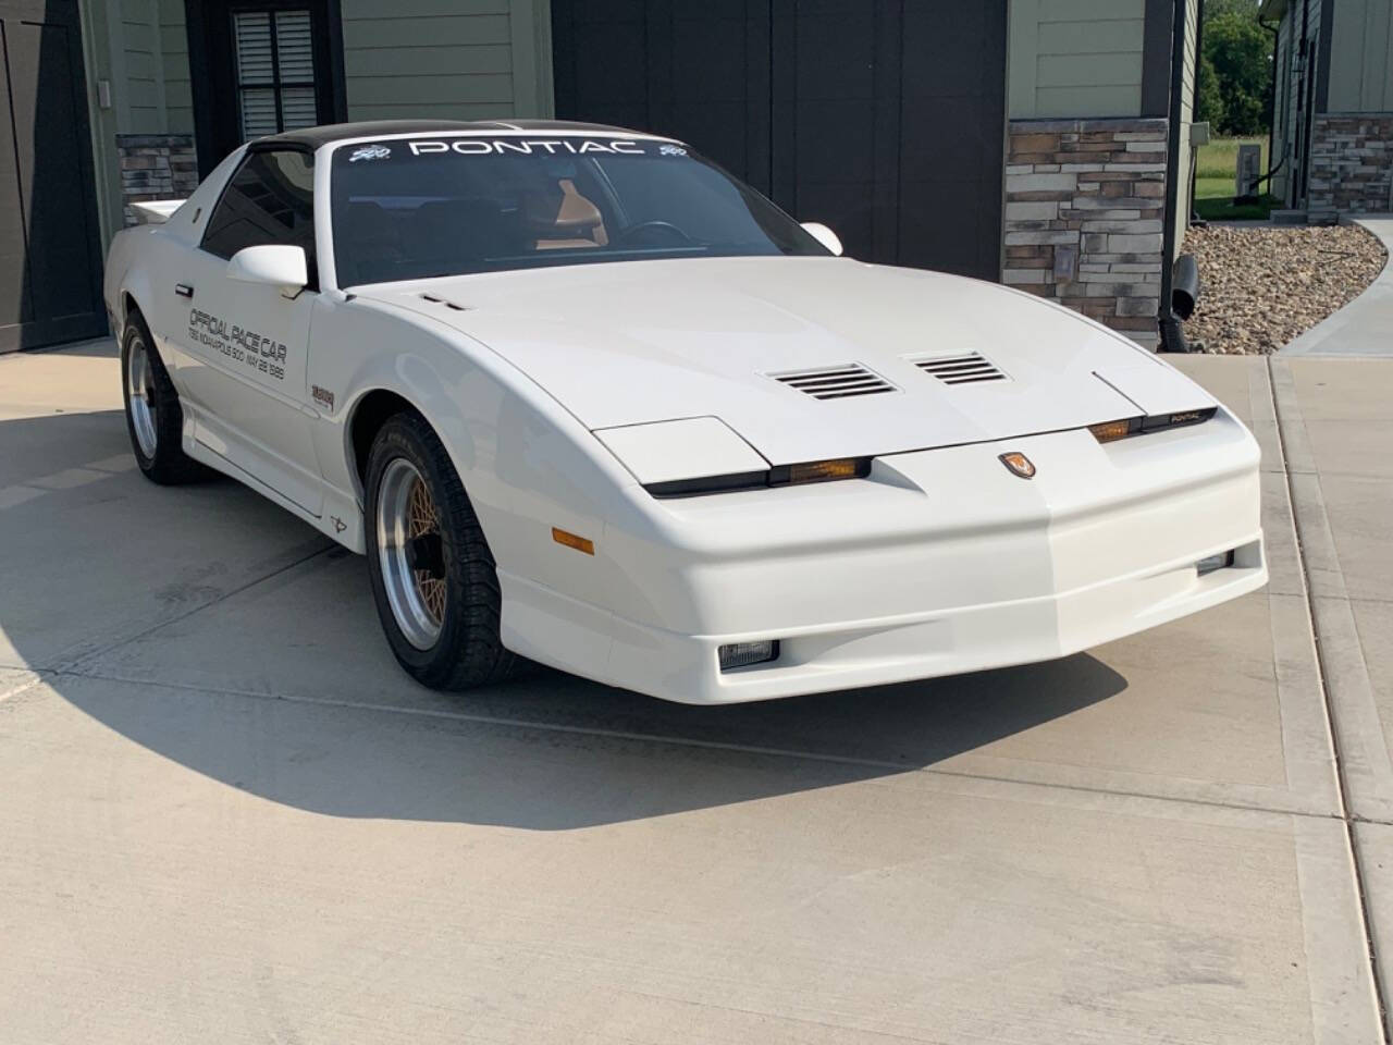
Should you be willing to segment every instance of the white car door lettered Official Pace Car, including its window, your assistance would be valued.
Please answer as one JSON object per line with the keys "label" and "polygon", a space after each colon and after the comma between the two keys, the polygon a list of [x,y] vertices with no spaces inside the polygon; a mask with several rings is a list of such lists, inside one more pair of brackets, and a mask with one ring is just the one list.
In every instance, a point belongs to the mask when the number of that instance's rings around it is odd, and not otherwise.
{"label": "white car door lettered Official Pace Car, including its window", "polygon": [[[287,294],[228,279],[233,255],[260,244],[302,248],[309,286]],[[176,276],[192,364],[181,376],[198,440],[313,516],[323,497],[305,368],[318,286],[313,156],[248,150]]]}

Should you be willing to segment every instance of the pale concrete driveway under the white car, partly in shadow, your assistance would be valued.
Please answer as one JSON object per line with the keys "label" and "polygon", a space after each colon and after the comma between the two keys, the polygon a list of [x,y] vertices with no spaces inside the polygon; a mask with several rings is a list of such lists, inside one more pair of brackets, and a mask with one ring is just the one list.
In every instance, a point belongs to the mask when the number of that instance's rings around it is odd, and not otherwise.
{"label": "pale concrete driveway under the white car, partly in shadow", "polygon": [[1268,591],[696,709],[415,687],[361,559],[134,471],[109,350],[0,359],[0,1041],[1385,1041],[1393,366],[1184,365]]}

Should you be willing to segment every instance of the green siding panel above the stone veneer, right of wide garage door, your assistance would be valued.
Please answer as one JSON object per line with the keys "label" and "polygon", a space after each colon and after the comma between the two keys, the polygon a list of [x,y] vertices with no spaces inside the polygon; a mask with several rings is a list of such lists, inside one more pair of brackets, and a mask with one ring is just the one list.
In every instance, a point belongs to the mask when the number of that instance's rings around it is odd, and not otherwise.
{"label": "green siding panel above the stone veneer, right of wide garage door", "polygon": [[1141,116],[1145,14],[1145,0],[1010,0],[1010,117]]}

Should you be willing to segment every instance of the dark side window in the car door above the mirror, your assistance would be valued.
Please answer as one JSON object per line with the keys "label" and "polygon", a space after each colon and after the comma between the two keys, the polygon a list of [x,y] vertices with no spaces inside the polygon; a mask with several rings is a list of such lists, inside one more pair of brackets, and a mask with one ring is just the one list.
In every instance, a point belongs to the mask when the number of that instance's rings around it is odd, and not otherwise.
{"label": "dark side window in the car door above the mirror", "polygon": [[311,290],[318,288],[313,164],[313,156],[302,152],[248,153],[213,208],[199,245],[227,259],[244,247],[302,247]]}

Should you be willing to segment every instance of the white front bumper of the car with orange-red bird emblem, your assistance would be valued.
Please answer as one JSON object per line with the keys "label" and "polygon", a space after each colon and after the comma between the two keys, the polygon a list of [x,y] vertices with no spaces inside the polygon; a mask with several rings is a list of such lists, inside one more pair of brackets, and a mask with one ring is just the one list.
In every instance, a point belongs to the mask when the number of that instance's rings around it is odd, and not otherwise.
{"label": "white front bumper of the car with orange-red bird emblem", "polygon": [[[1035,478],[1007,471],[1007,451]],[[503,575],[504,641],[624,688],[731,704],[1066,656],[1268,575],[1256,443],[1223,411],[1106,446],[1057,432],[642,509],[646,524],[606,531],[603,601]],[[1227,550],[1231,567],[1197,571]],[[779,640],[779,658],[720,670],[722,645],[756,640]]]}

